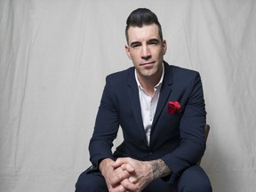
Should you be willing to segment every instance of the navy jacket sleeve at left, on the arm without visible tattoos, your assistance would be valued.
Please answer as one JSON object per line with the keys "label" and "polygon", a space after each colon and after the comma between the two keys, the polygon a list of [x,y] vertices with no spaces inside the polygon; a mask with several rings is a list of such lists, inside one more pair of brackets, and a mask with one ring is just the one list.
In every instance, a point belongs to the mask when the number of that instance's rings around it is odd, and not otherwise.
{"label": "navy jacket sleeve at left, on the arm without visible tattoos", "polygon": [[100,160],[114,159],[111,148],[118,132],[118,112],[115,107],[111,85],[106,78],[106,84],[100,100],[100,108],[95,121],[94,132],[89,144],[90,161],[98,169]]}

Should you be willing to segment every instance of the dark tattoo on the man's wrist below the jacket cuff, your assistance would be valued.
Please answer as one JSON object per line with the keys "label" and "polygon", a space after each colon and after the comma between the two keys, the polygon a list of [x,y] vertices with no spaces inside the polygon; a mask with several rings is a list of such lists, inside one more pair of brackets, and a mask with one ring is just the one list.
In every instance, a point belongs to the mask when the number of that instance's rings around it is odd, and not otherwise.
{"label": "dark tattoo on the man's wrist below the jacket cuff", "polygon": [[164,164],[162,159],[157,159],[149,162],[152,165],[154,180],[159,177],[164,177],[172,173],[170,168]]}

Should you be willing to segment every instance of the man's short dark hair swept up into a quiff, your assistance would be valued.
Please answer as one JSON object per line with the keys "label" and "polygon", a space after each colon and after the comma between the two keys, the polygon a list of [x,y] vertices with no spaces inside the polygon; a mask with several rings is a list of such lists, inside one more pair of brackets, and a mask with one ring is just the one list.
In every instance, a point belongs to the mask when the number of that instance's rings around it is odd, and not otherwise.
{"label": "man's short dark hair swept up into a quiff", "polygon": [[163,41],[162,27],[154,12],[151,12],[147,8],[139,8],[131,12],[131,14],[126,20],[125,37],[126,37],[127,43],[128,43],[128,29],[130,27],[142,28],[143,26],[148,26],[154,23],[157,25],[160,39],[161,41]]}

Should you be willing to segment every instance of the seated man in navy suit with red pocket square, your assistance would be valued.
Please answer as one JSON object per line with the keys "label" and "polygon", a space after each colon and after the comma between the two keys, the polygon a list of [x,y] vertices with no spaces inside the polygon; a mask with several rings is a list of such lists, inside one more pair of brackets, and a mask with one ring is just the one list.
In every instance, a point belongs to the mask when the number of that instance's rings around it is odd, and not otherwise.
{"label": "seated man in navy suit with red pocket square", "polygon": [[[205,149],[199,74],[164,61],[167,44],[154,12],[134,10],[126,24],[134,67],[106,78],[89,145],[92,166],[76,192],[212,191],[196,164]],[[124,141],[112,153],[119,126]]]}

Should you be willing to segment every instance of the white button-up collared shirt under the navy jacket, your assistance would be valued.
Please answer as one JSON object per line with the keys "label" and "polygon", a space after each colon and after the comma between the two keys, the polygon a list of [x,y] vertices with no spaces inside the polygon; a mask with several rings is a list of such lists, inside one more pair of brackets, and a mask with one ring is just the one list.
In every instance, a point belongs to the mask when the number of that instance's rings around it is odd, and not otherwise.
{"label": "white button-up collared shirt under the navy jacket", "polygon": [[156,84],[156,86],[154,87],[155,92],[154,92],[153,96],[151,97],[141,86],[141,84],[138,80],[136,70],[135,70],[135,79],[136,79],[136,82],[139,87],[141,116],[142,116],[142,121],[143,121],[144,129],[145,129],[146,137],[148,140],[148,146],[149,146],[149,142],[150,142],[151,127],[152,127],[153,119],[154,119],[155,112],[156,112],[156,106],[157,106],[157,102],[159,99],[159,94],[160,94],[160,90],[161,90],[161,85],[163,83],[163,78],[164,78],[164,64],[163,64],[162,76],[161,76],[158,84]]}

